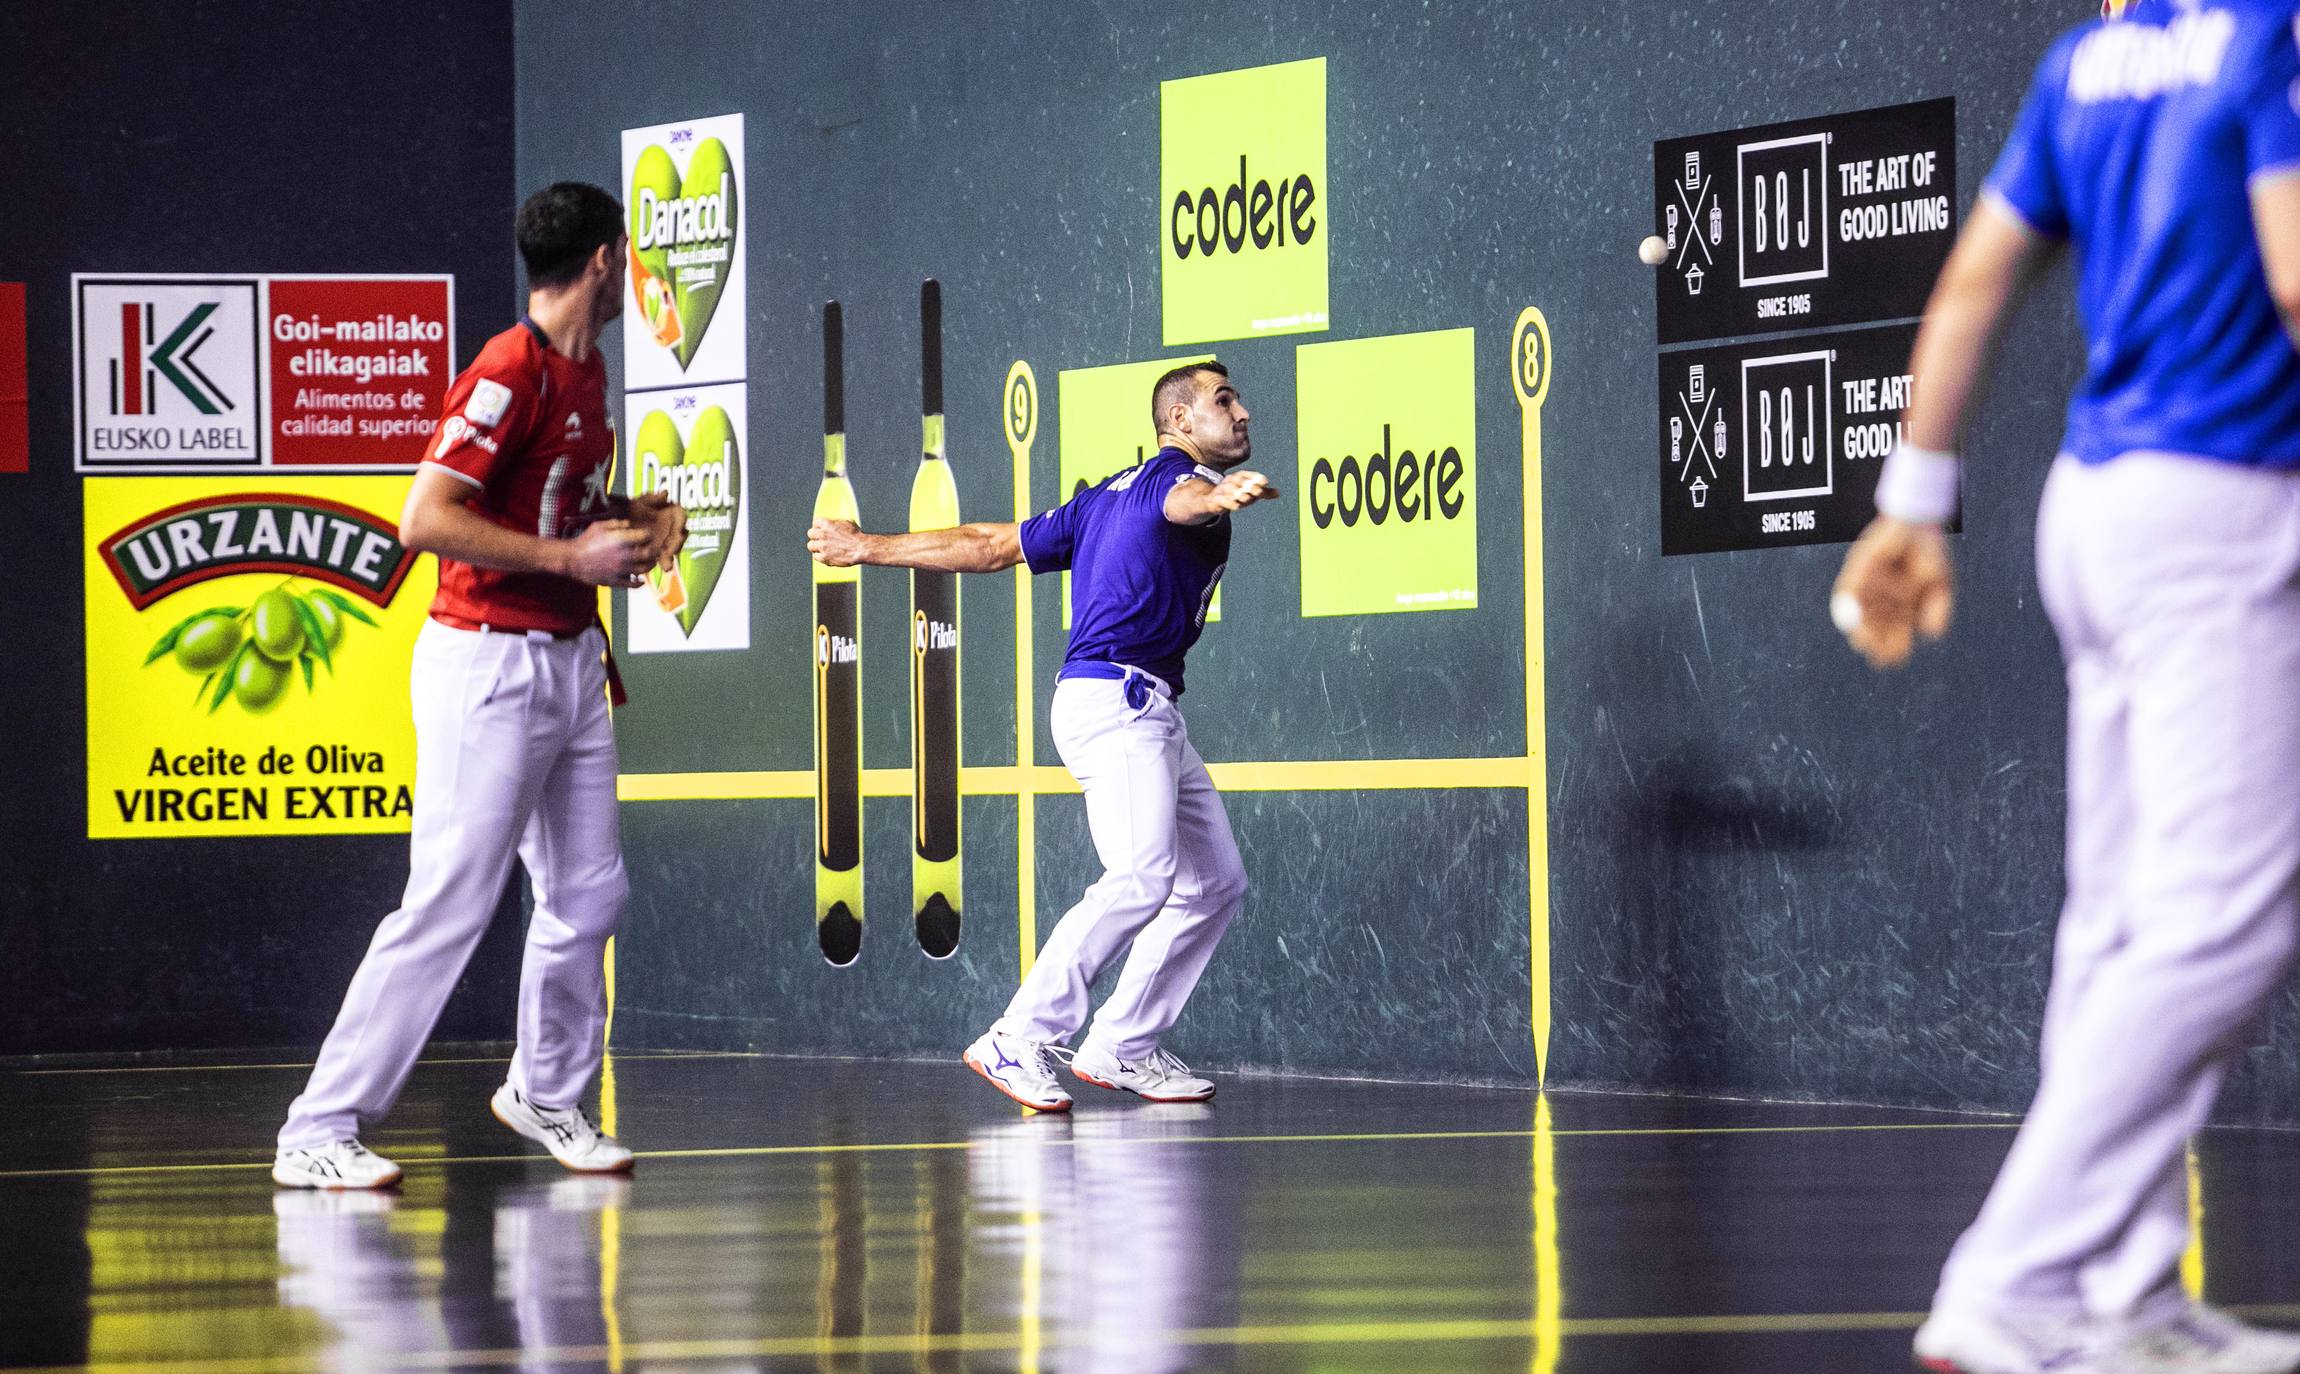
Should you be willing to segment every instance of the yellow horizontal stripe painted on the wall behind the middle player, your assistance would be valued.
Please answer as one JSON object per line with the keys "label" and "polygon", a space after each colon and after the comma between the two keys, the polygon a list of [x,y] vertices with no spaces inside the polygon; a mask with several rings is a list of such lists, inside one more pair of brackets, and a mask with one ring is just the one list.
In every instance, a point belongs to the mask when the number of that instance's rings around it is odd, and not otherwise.
{"label": "yellow horizontal stripe painted on the wall behind the middle player", "polygon": [[[1224,792],[1385,792],[1447,787],[1525,787],[1525,759],[1300,759],[1267,764],[1208,764]],[[1028,778],[1037,796],[1076,792],[1067,769],[1046,764],[968,766],[959,771],[966,796],[1014,796]],[[803,801],[814,796],[812,769],[761,773],[623,773],[623,801]],[[908,796],[911,769],[862,769],[862,796]]]}

